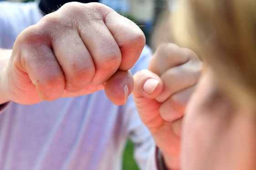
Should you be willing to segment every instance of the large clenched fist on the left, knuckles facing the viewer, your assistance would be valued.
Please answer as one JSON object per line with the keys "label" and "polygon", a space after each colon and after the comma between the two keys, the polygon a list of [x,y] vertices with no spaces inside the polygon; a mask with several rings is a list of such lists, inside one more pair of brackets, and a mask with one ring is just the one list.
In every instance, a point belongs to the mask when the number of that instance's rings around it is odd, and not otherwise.
{"label": "large clenched fist on the left, knuckles facing the viewer", "polygon": [[112,102],[124,104],[133,91],[128,69],[144,44],[138,26],[111,8],[67,3],[18,36],[0,72],[0,93],[5,100],[33,104],[105,87]]}

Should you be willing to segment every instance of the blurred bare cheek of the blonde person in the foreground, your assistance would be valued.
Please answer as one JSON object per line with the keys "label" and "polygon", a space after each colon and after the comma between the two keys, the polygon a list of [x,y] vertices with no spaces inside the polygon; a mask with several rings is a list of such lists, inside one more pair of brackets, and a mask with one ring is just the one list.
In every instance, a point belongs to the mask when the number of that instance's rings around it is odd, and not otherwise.
{"label": "blurred bare cheek of the blonde person in the foreground", "polygon": [[186,109],[183,170],[255,170],[255,113],[218,87],[208,66]]}

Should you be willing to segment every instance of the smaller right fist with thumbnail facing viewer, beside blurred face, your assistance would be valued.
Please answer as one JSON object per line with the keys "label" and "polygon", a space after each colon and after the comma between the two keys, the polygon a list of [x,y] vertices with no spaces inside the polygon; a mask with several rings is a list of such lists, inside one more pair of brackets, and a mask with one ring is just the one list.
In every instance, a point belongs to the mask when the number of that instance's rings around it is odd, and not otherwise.
{"label": "smaller right fist with thumbnail facing viewer, beside blurred face", "polygon": [[202,63],[191,50],[163,44],[148,70],[134,75],[133,98],[139,115],[172,170],[180,168],[182,117],[201,68]]}

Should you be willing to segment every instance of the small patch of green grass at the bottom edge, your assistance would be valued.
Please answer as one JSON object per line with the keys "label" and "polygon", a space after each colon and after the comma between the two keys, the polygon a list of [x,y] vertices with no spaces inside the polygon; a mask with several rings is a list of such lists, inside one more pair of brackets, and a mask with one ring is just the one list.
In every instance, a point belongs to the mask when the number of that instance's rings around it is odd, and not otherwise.
{"label": "small patch of green grass at the bottom edge", "polygon": [[123,170],[138,170],[133,159],[133,142],[128,140],[123,153]]}

